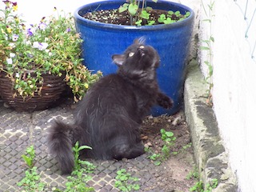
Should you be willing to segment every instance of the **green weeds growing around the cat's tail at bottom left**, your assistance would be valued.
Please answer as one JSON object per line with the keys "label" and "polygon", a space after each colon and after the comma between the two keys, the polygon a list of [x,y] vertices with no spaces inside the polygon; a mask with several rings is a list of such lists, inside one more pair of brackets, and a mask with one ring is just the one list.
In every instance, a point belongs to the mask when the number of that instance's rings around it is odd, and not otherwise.
{"label": "green weeds growing around the cat's tail at bottom left", "polygon": [[[78,142],[73,147],[74,151],[74,171],[67,177],[66,189],[60,190],[53,187],[51,191],[55,192],[89,192],[94,191],[93,187],[86,186],[86,182],[90,181],[91,177],[88,175],[93,172],[95,166],[91,162],[79,159],[79,152],[81,150],[90,150],[90,146],[79,146]],[[41,182],[41,176],[38,174],[38,168],[34,166],[35,151],[34,146],[29,146],[26,149],[26,154],[22,154],[28,170],[25,171],[25,177],[17,183],[25,191],[43,191],[49,190],[46,182]]]}

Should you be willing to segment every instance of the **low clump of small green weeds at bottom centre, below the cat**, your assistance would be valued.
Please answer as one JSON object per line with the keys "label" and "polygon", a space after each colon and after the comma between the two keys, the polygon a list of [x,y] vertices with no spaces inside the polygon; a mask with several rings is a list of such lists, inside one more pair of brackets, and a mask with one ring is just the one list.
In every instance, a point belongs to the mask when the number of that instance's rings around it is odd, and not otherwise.
{"label": "low clump of small green weeds at bottom centre, below the cat", "polygon": [[126,169],[118,170],[115,179],[116,182],[114,182],[114,186],[117,187],[118,190],[131,191],[140,189],[138,184],[133,184],[133,182],[138,181],[138,178],[131,177],[131,174],[127,173]]}

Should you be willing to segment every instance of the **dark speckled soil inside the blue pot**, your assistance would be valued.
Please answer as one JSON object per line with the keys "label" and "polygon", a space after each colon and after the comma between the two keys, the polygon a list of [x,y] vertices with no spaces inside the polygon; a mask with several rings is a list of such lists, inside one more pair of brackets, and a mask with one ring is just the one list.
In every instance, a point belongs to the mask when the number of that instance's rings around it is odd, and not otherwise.
{"label": "dark speckled soil inside the blue pot", "polygon": [[[139,10],[141,11],[141,10]],[[147,13],[150,14],[149,19],[142,19],[142,26],[148,25],[150,21],[154,21],[154,25],[164,24],[163,22],[159,22],[158,18],[160,15],[164,14],[166,18],[170,18],[172,22],[178,22],[182,18],[186,18],[185,15],[178,13],[170,12],[168,13],[167,10],[148,10]],[[90,19],[94,22],[103,22],[109,24],[116,24],[116,25],[123,25],[123,26],[130,26],[130,14],[128,10],[119,12],[118,10],[98,10],[94,12],[88,12],[83,15],[83,18]],[[132,26],[136,26],[136,17],[133,18]],[[164,18],[162,18],[164,20]]]}

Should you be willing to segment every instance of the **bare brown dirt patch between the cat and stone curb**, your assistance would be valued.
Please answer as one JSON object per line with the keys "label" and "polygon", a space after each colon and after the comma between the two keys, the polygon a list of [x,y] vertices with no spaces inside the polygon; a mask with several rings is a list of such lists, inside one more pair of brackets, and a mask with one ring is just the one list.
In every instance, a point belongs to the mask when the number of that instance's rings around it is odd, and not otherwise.
{"label": "bare brown dirt patch between the cat and stone curb", "polygon": [[[161,164],[168,171],[163,176],[159,175],[158,186],[151,186],[151,189],[148,190],[157,190],[159,187],[166,189],[165,191],[190,191],[189,189],[195,181],[188,179],[187,176],[194,170],[194,159],[190,131],[184,113],[145,118],[142,123],[142,140],[156,154],[161,152],[162,146],[165,144],[161,138],[161,129],[173,132],[176,141],[174,146],[170,147],[170,157]],[[177,154],[172,154],[172,152],[177,152]],[[150,154],[147,153],[147,155]]]}

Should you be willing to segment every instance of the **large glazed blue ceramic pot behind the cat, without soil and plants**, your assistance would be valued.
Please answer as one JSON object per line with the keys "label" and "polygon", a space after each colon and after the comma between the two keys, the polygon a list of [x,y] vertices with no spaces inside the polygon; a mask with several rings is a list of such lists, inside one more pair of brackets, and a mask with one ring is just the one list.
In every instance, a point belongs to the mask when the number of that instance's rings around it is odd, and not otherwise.
{"label": "large glazed blue ceramic pot behind the cat, without soil and plants", "polygon": [[186,58],[190,48],[190,37],[194,24],[194,12],[178,3],[160,1],[147,2],[147,6],[158,10],[179,10],[181,14],[190,11],[190,16],[181,22],[155,26],[121,26],[93,22],[82,17],[94,10],[118,9],[125,0],[94,2],[78,8],[74,13],[75,24],[81,37],[84,64],[89,70],[101,70],[103,75],[115,73],[117,66],[111,61],[113,54],[122,54],[135,38],[144,36],[146,44],[158,50],[161,58],[158,68],[158,83],[161,90],[173,98],[174,107],[170,110],[155,106],[154,116],[174,114],[182,106],[183,84],[185,80]]}

